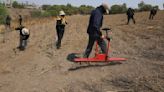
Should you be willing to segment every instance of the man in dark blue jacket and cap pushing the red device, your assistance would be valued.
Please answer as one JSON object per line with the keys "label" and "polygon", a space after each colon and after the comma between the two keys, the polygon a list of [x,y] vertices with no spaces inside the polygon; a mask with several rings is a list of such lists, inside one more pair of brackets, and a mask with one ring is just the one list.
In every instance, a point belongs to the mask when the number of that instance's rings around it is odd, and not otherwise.
{"label": "man in dark blue jacket and cap pushing the red device", "polygon": [[106,43],[103,40],[103,35],[100,31],[100,28],[102,27],[102,23],[103,23],[103,14],[105,13],[109,13],[109,7],[105,3],[97,7],[95,10],[91,12],[89,26],[87,29],[87,33],[89,35],[89,41],[83,56],[84,58],[89,57],[95,41],[98,42],[98,45],[102,50],[102,53],[106,53],[107,51]]}

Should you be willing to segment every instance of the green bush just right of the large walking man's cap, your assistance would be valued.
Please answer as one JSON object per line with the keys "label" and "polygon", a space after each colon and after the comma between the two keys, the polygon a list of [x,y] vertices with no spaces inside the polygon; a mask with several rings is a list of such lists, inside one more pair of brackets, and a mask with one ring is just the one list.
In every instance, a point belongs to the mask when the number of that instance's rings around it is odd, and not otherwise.
{"label": "green bush just right of the large walking man's cap", "polygon": [[127,11],[127,6],[124,3],[123,5],[113,5],[110,9],[111,14],[125,13]]}

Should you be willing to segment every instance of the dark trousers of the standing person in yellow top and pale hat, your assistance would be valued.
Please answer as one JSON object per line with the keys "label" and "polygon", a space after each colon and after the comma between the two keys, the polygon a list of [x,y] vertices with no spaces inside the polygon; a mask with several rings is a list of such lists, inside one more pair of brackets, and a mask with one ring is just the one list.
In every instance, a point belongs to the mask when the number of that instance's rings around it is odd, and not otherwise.
{"label": "dark trousers of the standing person in yellow top and pale hat", "polygon": [[57,29],[57,36],[58,36],[58,39],[56,42],[57,49],[59,49],[61,47],[61,40],[63,38],[63,35],[64,35],[64,28],[63,29]]}

